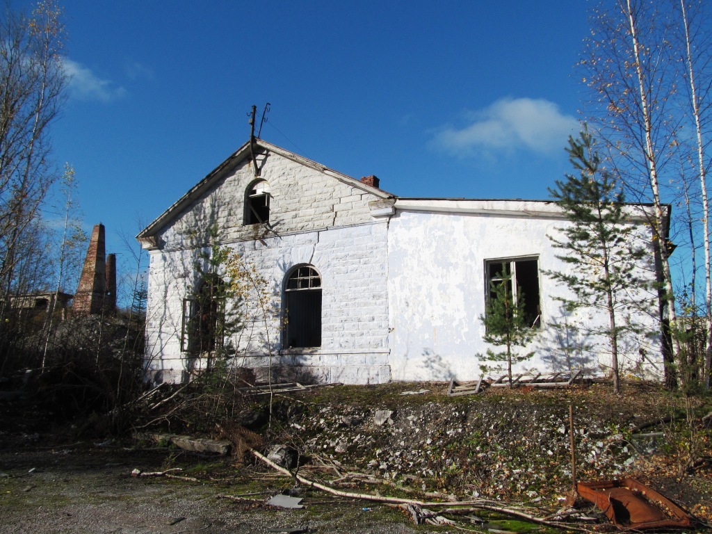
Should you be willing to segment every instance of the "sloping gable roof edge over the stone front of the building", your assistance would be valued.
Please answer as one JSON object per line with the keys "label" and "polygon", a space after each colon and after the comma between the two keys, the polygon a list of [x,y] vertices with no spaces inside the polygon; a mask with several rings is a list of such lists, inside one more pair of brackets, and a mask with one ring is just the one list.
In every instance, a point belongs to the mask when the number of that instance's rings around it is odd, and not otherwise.
{"label": "sloping gable roof edge over the stone front of the building", "polygon": [[153,221],[151,224],[146,226],[145,229],[140,231],[140,233],[136,236],[136,239],[142,241],[143,239],[149,239],[151,236],[157,234],[157,232],[160,231],[164,226],[166,226],[170,221],[172,221],[172,219],[181,214],[184,209],[190,206],[190,204],[192,204],[194,200],[198,199],[201,194],[209,190],[216,182],[218,182],[222,177],[224,177],[226,172],[229,172],[229,170],[234,168],[236,164],[239,164],[246,159],[250,159],[252,157],[251,148],[255,152],[269,151],[282,157],[286,157],[287,159],[291,159],[293,162],[302,164],[305,167],[310,167],[318,172],[322,172],[323,174],[327,174],[328,176],[333,177],[334,179],[337,179],[340,182],[344,182],[345,184],[348,184],[352,187],[357,187],[357,189],[362,189],[363,191],[373,194],[376,197],[380,197],[382,199],[390,199],[395,197],[394,194],[385,192],[382,189],[377,189],[376,187],[371,187],[370,185],[360,182],[360,180],[347,176],[346,174],[337,172],[333,169],[330,169],[329,167],[325,167],[325,165],[323,164],[314,162],[311,159],[307,159],[305,157],[297,155],[294,152],[290,152],[289,150],[285,150],[281,147],[272,145],[271,143],[255,138],[253,142],[253,147],[250,147],[249,141],[239,147],[239,149],[233,152],[227,159],[225,159],[224,162],[215,167],[215,169],[213,169],[206,177],[201,179],[201,181],[195,184],[191,189],[189,189],[186,194],[184,194],[177,201],[175,201],[172,206],[170,206],[166,211],[157,216],[155,221]]}

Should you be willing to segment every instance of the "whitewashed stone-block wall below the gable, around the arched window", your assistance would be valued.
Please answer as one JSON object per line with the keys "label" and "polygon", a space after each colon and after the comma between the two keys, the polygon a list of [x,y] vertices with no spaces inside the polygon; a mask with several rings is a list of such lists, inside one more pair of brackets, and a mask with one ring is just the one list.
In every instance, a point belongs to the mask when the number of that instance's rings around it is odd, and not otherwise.
{"label": "whitewashed stone-block wall below the gable, around the arched window", "polygon": [[[388,382],[387,224],[303,231],[263,241],[228,244],[269,281],[272,295],[266,328],[261,310],[252,308],[246,328],[231,340],[236,363],[263,379],[272,367],[281,375],[301,374],[318,382]],[[180,381],[186,369],[180,352],[182,303],[197,284],[193,266],[201,250],[206,249],[150,253],[147,357],[164,380]],[[322,278],[322,345],[285,350],[283,282],[291,268],[303,264],[314,266]]]}

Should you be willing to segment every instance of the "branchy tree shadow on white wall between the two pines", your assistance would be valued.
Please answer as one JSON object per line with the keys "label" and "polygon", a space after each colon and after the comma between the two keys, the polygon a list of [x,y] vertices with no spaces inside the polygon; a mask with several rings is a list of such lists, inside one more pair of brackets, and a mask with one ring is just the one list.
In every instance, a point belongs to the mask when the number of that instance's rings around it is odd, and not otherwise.
{"label": "branchy tree shadow on white wall between the two pines", "polygon": [[539,341],[538,353],[553,372],[597,367],[590,335],[572,325],[570,313],[560,308],[561,317],[553,320],[548,328],[552,335]]}

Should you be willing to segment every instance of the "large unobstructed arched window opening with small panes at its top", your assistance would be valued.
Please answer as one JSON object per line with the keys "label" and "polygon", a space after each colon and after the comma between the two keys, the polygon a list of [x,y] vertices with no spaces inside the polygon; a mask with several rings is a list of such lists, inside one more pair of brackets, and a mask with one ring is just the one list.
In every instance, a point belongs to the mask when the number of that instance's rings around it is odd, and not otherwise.
{"label": "large unobstructed arched window opening with small panes at its top", "polygon": [[321,277],[312,266],[293,269],[284,288],[287,348],[321,346]]}

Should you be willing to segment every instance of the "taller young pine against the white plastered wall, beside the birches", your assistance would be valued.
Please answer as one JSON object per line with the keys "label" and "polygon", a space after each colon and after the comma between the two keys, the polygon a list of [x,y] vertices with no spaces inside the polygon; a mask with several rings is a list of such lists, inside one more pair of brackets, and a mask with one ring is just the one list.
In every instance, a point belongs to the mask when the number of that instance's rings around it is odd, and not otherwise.
{"label": "taller young pine against the white plastered wall, beside the birches", "polygon": [[619,392],[619,339],[626,330],[635,328],[620,315],[636,309],[644,300],[646,281],[637,268],[650,251],[639,244],[637,226],[629,220],[622,190],[601,169],[592,135],[584,130],[577,140],[569,137],[566,151],[579,175],[567,174],[549,192],[570,224],[560,229],[561,238],[548,237],[563,251],[557,258],[572,269],[546,274],[572,291],[574,298],[561,299],[568,311],[597,308],[607,313],[607,328],[600,333],[608,340],[613,389]]}

